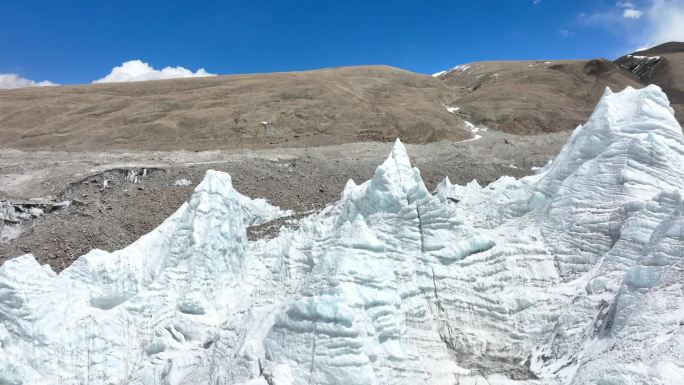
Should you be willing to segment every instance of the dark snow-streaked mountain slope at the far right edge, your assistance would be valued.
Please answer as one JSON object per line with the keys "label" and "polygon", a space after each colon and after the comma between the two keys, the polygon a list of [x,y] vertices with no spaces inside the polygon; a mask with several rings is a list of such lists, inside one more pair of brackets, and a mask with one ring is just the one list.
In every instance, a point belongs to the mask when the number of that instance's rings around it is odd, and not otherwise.
{"label": "dark snow-streaked mountain slope at the far right edge", "polygon": [[656,84],[665,91],[677,119],[684,119],[684,43],[669,42],[622,56],[615,61],[633,72],[644,84]]}

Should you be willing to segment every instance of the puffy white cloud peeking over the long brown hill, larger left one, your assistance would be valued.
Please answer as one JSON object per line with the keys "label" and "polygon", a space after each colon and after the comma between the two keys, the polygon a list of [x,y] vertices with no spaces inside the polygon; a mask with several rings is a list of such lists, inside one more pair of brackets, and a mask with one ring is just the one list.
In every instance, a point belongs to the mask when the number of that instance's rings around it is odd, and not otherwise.
{"label": "puffy white cloud peeking over the long brown hill, larger left one", "polygon": [[147,63],[140,60],[129,60],[120,66],[112,68],[112,72],[102,79],[95,80],[93,83],[116,83],[116,82],[137,82],[144,80],[161,80],[176,78],[199,78],[206,76],[216,76],[205,71],[204,68],[192,72],[183,67],[165,67],[156,70]]}

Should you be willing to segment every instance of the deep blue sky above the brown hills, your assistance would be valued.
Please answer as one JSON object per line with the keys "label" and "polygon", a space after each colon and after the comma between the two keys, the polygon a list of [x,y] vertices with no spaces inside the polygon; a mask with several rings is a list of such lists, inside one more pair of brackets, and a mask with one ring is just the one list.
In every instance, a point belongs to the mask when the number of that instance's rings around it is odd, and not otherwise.
{"label": "deep blue sky above the brown hills", "polygon": [[[673,25],[659,26],[673,10]],[[684,0],[3,0],[0,74],[71,84],[133,59],[214,74],[612,59],[681,36],[682,10]]]}

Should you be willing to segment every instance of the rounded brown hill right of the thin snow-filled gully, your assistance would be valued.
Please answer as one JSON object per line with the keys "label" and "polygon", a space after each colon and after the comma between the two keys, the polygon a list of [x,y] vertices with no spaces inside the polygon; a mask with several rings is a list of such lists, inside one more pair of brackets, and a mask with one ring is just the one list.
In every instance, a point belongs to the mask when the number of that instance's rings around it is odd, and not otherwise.
{"label": "rounded brown hill right of the thin snow-filled gully", "polygon": [[574,129],[606,86],[641,87],[636,76],[602,59],[476,62],[436,77],[469,91],[457,102],[466,120],[514,134]]}

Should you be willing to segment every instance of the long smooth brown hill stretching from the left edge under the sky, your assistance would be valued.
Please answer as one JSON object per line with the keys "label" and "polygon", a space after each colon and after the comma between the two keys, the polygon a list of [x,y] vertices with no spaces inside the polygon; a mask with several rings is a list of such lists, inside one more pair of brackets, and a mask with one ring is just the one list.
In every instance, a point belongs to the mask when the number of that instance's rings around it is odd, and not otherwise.
{"label": "long smooth brown hill stretching from the left edge under the sky", "polygon": [[444,108],[458,93],[387,66],[2,91],[0,148],[463,140],[463,122]]}

